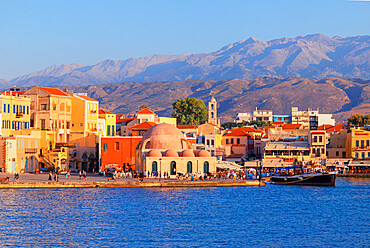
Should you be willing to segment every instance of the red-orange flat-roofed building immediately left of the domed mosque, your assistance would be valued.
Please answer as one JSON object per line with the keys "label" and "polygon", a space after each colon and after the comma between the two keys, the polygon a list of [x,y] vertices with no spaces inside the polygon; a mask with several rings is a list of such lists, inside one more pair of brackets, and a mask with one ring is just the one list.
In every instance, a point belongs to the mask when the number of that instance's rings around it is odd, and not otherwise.
{"label": "red-orange flat-roofed building immediately left of the domed mosque", "polygon": [[135,149],[141,139],[141,136],[102,137],[100,171],[107,168],[136,170]]}

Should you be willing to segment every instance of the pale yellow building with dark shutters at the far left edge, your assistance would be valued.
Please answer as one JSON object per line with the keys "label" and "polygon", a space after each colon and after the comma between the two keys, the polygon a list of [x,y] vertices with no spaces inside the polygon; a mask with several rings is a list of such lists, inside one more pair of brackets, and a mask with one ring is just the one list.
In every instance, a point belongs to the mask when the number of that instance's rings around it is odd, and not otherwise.
{"label": "pale yellow building with dark shutters at the far left edge", "polygon": [[30,128],[31,99],[23,91],[6,91],[0,95],[0,135],[9,136]]}

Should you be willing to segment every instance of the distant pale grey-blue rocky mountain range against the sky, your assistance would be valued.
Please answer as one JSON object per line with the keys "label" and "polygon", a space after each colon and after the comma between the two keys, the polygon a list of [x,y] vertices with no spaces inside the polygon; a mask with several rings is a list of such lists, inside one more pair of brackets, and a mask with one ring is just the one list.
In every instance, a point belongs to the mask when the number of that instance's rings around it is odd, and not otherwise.
{"label": "distant pale grey-blue rocky mountain range against the sky", "polygon": [[314,34],[270,41],[251,37],[211,53],[151,55],[104,60],[95,65],[53,65],[0,84],[97,85],[124,81],[250,80],[265,76],[369,79],[369,68],[369,35],[342,38]]}

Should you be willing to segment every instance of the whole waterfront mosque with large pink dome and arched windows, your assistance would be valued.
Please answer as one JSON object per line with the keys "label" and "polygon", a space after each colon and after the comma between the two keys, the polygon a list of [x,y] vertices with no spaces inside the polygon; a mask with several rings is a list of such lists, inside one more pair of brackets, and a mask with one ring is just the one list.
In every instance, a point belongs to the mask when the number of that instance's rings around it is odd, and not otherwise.
{"label": "whole waterfront mosque with large pink dome and arched windows", "polygon": [[161,123],[150,128],[135,151],[139,173],[167,172],[171,178],[186,173],[215,173],[216,158],[205,150],[195,151],[175,126]]}

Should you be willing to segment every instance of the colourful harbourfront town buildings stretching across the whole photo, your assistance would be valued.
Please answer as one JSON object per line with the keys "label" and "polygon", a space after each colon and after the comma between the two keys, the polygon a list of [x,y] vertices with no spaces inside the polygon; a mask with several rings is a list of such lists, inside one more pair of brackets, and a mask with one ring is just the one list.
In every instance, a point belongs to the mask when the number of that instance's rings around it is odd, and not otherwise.
{"label": "colourful harbourfront town buildings stretching across the whole photo", "polygon": [[[171,171],[176,168],[173,162],[195,157],[194,162],[188,162],[187,172],[194,171],[193,163],[198,166],[200,161],[204,163],[203,172],[211,167],[215,170],[216,161],[247,167],[260,162],[265,168],[305,161],[358,172],[370,160],[368,127],[338,124],[331,114],[294,106],[290,115],[256,109],[239,113],[234,120],[269,123],[265,127],[224,129],[217,117],[219,104],[214,97],[208,103],[208,122],[201,125],[177,125],[176,118],[158,116],[147,108],[127,118],[101,109],[99,101],[85,93],[49,87],[5,91],[0,95],[0,103],[0,170],[5,173],[56,168],[72,172],[109,168],[137,171],[138,161],[151,161],[151,170],[158,171],[157,162],[162,157],[163,161],[170,161]],[[138,160],[143,136],[157,125],[163,132],[181,131],[179,142],[186,142],[187,148],[148,150],[140,153]],[[145,149],[145,144],[141,149]]]}

